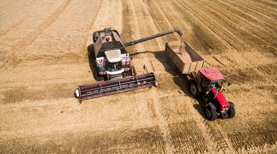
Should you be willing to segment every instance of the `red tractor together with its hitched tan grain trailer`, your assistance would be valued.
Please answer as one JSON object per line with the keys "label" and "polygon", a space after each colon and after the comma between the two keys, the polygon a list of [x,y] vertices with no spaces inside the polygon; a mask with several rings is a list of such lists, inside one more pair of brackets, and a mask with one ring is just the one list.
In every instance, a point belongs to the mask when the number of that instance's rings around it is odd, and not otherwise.
{"label": "red tractor together with its hitched tan grain trailer", "polygon": [[[166,62],[172,71],[178,69],[188,75],[190,93],[195,98],[202,98],[205,102],[205,115],[208,120],[214,121],[217,115],[222,119],[233,118],[235,108],[232,102],[227,102],[222,91],[224,89],[224,77],[214,67],[202,68],[204,59],[186,42],[174,41],[166,43],[165,52],[169,56]],[[197,75],[196,75],[196,72]],[[228,82],[227,82],[228,83]],[[228,83],[228,86],[231,83]],[[221,91],[220,91],[221,90]]]}

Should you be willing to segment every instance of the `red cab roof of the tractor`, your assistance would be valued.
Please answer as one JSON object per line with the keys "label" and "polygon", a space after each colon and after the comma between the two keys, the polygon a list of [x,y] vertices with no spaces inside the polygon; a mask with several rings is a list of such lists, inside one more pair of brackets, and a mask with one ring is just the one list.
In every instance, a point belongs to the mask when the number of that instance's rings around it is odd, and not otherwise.
{"label": "red cab roof of the tractor", "polygon": [[224,80],[224,77],[222,76],[220,71],[218,71],[218,69],[214,67],[204,67],[199,69],[199,72],[211,81]]}

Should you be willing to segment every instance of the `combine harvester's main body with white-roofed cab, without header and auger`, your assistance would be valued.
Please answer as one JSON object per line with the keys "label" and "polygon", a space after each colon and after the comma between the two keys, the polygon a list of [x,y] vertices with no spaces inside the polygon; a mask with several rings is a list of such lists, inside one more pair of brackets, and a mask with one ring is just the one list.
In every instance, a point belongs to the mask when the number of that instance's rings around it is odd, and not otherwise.
{"label": "combine harvester's main body with white-roofed cab, without header and auger", "polygon": [[[106,27],[106,26],[104,26]],[[99,29],[98,29],[99,30]],[[96,57],[96,80],[110,80],[132,75],[134,66],[116,30],[106,27],[93,33],[93,47]],[[134,75],[135,71],[134,71]]]}

